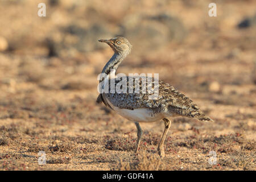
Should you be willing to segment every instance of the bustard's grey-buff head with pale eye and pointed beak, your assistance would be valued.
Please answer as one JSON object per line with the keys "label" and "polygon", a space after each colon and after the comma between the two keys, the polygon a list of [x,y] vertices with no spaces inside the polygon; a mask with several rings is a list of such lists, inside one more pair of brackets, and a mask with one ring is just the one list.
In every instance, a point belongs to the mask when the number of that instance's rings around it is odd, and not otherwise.
{"label": "bustard's grey-buff head with pale eye and pointed beak", "polygon": [[122,36],[117,36],[113,39],[109,40],[98,40],[99,42],[104,42],[108,44],[115,53],[130,53],[131,51],[131,43],[126,39],[123,38]]}

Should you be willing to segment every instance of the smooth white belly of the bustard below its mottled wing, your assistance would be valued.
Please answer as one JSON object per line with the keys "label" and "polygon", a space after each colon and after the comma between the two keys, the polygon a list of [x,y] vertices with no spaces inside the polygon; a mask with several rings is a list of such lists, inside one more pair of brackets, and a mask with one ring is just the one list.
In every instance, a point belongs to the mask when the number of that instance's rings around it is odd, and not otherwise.
{"label": "smooth white belly of the bustard below its mottled wing", "polygon": [[[108,101],[108,99],[107,99]],[[153,113],[152,110],[142,108],[142,109],[119,109],[119,107],[115,107],[108,101],[108,104],[122,117],[129,119],[133,122],[155,122],[160,121],[165,116],[163,113]]]}

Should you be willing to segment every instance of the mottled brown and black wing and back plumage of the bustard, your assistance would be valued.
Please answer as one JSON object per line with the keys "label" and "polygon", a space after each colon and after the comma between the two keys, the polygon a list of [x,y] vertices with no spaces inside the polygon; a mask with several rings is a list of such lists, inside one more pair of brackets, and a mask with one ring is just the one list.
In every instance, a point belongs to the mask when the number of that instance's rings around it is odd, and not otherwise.
{"label": "mottled brown and black wing and back plumage of the bustard", "polygon": [[[139,93],[135,93],[135,78],[139,80]],[[158,82],[154,82],[154,78],[150,78],[150,82],[147,82],[147,77],[144,77],[146,81],[146,86],[148,84],[152,84],[152,88],[158,87],[158,97],[155,100],[150,100],[148,96],[152,96],[151,93],[148,92],[142,93],[142,80],[143,77],[126,77],[126,92],[125,93],[110,93],[110,82],[109,81],[109,92],[103,93],[102,96],[99,96],[101,102],[101,97],[105,97],[112,103],[113,106],[119,107],[120,109],[139,109],[146,108],[152,110],[153,113],[164,113],[166,117],[175,116],[175,115],[183,115],[186,117],[192,117],[200,119],[201,121],[212,121],[209,117],[204,115],[199,107],[187,96],[180,93],[170,84],[163,82],[162,80],[158,80]],[[121,79],[114,78],[115,85],[121,82]],[[132,84],[130,84],[132,81]],[[154,85],[154,84],[158,85]],[[132,85],[133,93],[129,93],[129,85]],[[110,107],[109,104],[105,104]],[[113,108],[112,108],[113,109]]]}

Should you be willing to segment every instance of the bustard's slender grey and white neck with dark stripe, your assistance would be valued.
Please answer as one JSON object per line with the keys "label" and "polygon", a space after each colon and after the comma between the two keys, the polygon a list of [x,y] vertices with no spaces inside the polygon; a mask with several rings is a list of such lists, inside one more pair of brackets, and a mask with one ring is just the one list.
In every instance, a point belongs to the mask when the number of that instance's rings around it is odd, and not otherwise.
{"label": "bustard's slender grey and white neck with dark stripe", "polygon": [[[121,53],[114,53],[114,55],[110,58],[108,63],[106,63],[105,67],[102,69],[101,73],[105,73],[106,75],[114,75],[117,71],[119,64],[122,62],[123,59],[129,54],[129,52],[121,52]],[[110,74],[111,73],[111,74]]]}

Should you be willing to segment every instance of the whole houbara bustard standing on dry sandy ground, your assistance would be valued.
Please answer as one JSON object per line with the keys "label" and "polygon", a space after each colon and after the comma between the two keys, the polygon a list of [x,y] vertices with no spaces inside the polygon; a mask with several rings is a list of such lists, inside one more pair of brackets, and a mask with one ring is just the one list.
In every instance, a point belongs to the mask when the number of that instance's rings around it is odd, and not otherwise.
{"label": "whole houbara bustard standing on dry sandy ground", "polygon": [[[117,85],[121,79],[118,79],[115,76],[118,65],[122,62],[123,59],[130,53],[131,44],[130,42],[123,37],[115,37],[109,40],[98,40],[99,42],[108,44],[114,51],[114,55],[106,63],[105,67],[102,70],[102,75],[106,75],[104,79],[100,78],[100,87],[104,89],[106,86],[110,85],[111,81],[114,79],[114,84]],[[131,84],[133,90],[135,88],[134,77],[126,77],[127,88],[129,88],[129,81],[133,81]],[[135,77],[136,78],[136,77]],[[154,88],[158,88],[158,96],[154,100],[150,99],[149,96],[152,93],[142,92],[142,78],[138,78],[139,81],[139,92],[126,92],[126,93],[117,93],[117,92],[101,92],[97,98],[97,103],[104,102],[104,104],[116,111],[122,117],[133,121],[137,127],[137,147],[135,148],[135,154],[138,152],[139,144],[142,137],[142,129],[139,126],[139,122],[156,122],[164,121],[164,132],[158,146],[158,154],[161,157],[164,157],[164,147],[163,143],[166,139],[168,129],[170,129],[171,121],[168,117],[173,117],[176,115],[181,115],[190,118],[197,118],[201,121],[213,121],[207,115],[202,113],[199,107],[184,94],[177,91],[170,84],[164,83],[161,80],[158,80],[158,85],[154,85]],[[154,78],[151,78],[154,80]],[[105,80],[105,82],[103,81]],[[146,79],[147,80],[147,79]],[[102,84],[104,82],[104,84]],[[146,81],[147,82],[147,81]],[[106,85],[108,84],[108,85]],[[151,84],[151,83],[146,83]]]}

